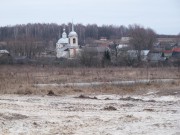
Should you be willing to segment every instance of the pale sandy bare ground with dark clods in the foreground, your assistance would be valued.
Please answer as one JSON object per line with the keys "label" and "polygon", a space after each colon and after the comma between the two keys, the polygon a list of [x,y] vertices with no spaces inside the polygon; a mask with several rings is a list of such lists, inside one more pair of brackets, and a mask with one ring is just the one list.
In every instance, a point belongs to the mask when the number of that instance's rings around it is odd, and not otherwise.
{"label": "pale sandy bare ground with dark clods in the foreground", "polygon": [[0,96],[1,135],[180,135],[180,96]]}

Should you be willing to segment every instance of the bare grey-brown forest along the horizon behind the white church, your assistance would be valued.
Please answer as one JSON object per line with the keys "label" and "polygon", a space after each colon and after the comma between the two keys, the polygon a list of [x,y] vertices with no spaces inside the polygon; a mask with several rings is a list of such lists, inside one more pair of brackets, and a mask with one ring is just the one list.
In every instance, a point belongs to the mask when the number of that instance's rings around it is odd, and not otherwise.
{"label": "bare grey-brown forest along the horizon behind the white church", "polygon": [[[125,26],[76,24],[74,27],[79,36],[80,44],[83,44],[87,39],[99,39],[100,37],[117,39],[129,34],[129,29]],[[58,40],[63,32],[63,28],[69,33],[71,31],[71,23],[61,25],[55,23],[29,23],[26,25],[0,27],[0,41],[36,40],[48,42],[49,40]]]}

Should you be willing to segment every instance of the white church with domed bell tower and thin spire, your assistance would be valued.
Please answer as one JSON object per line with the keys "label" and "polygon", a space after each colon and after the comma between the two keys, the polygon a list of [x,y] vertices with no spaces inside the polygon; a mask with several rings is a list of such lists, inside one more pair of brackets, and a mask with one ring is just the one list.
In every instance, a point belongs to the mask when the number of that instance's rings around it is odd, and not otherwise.
{"label": "white church with domed bell tower and thin spire", "polygon": [[56,43],[56,57],[57,58],[75,58],[79,53],[78,35],[74,31],[74,25],[72,23],[72,31],[68,37],[63,29],[62,37]]}

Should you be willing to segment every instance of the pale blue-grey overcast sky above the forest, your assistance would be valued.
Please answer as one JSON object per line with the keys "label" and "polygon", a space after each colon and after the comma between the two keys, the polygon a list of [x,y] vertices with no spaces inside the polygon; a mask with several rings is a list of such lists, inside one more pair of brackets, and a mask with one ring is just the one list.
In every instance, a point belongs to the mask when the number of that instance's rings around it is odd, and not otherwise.
{"label": "pale blue-grey overcast sky above the forest", "polygon": [[0,0],[0,26],[68,23],[150,27],[180,33],[180,0]]}

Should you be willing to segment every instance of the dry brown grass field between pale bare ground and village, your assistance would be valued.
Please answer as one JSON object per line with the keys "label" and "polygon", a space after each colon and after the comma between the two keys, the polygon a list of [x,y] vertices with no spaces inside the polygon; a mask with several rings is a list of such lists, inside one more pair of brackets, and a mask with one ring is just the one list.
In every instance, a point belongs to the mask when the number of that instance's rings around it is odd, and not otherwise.
{"label": "dry brown grass field between pale bare ground and village", "polygon": [[38,83],[67,83],[67,82],[107,82],[115,80],[138,80],[180,78],[177,68],[59,68],[35,66],[0,66],[1,94],[41,94],[53,91],[56,95],[76,93],[141,93],[148,89],[178,89],[179,83],[138,84],[136,86],[98,86],[88,88],[78,87],[45,87],[37,88]]}

